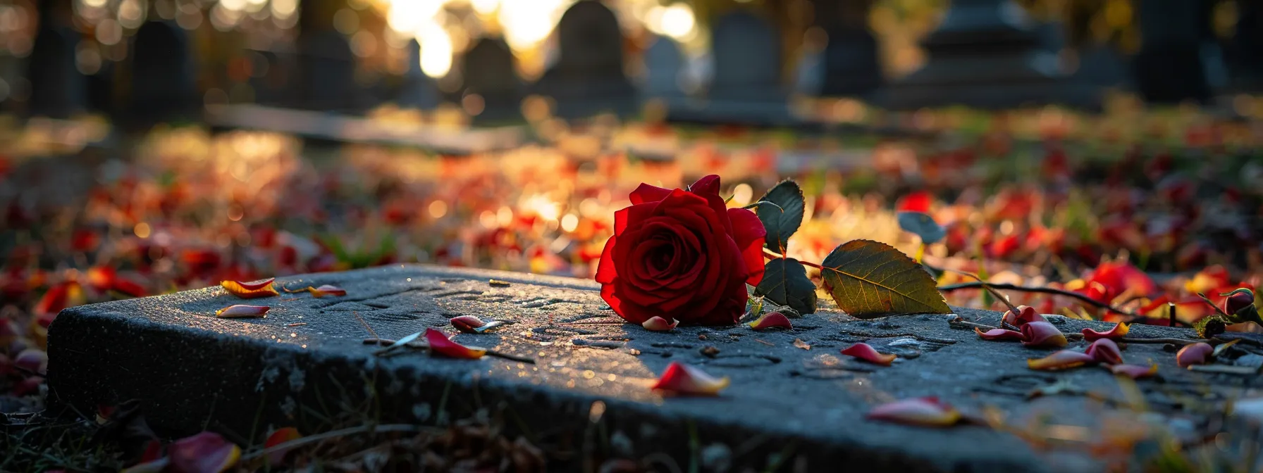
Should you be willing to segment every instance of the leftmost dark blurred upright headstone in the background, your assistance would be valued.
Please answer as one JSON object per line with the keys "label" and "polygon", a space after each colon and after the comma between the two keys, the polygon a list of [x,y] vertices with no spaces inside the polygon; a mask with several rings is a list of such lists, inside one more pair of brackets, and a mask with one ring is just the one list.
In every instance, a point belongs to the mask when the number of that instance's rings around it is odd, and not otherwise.
{"label": "leftmost dark blurred upright headstone in the background", "polygon": [[64,119],[86,107],[87,82],[75,64],[78,34],[68,15],[69,1],[39,4],[39,29],[27,64],[30,115]]}

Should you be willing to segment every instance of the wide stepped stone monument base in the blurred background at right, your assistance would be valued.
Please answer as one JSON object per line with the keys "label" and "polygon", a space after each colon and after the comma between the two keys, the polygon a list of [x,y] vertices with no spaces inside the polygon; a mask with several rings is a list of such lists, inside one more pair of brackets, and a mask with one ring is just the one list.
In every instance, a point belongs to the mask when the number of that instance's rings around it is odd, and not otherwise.
{"label": "wide stepped stone monument base in the blurred background at right", "polygon": [[922,45],[930,53],[928,61],[887,87],[883,105],[892,108],[1100,105],[1096,87],[1061,73],[1057,57],[1039,44],[1024,11],[1012,0],[954,0]]}

